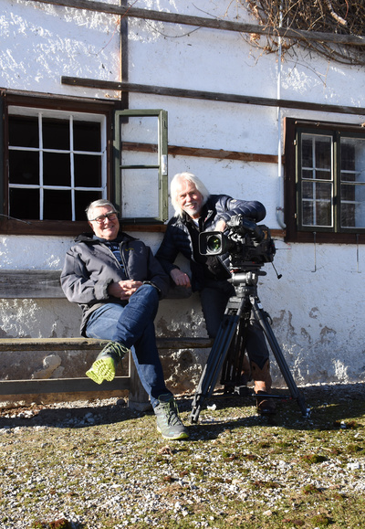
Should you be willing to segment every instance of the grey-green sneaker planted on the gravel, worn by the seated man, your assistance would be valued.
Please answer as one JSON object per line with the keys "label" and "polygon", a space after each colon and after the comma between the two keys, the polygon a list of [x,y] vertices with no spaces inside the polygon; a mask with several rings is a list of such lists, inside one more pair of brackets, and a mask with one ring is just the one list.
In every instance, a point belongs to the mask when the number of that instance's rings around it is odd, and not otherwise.
{"label": "grey-green sneaker planted on the gravel, worn by the seated man", "polygon": [[157,431],[163,439],[188,439],[188,430],[183,426],[174,398],[161,395],[159,404],[154,408],[157,420]]}

